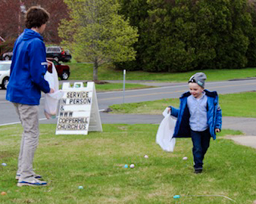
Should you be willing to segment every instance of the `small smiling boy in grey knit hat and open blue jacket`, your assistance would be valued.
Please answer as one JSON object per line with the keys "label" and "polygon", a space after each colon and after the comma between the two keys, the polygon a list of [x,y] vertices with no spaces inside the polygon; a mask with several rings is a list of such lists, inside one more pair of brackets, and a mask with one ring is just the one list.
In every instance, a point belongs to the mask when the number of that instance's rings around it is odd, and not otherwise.
{"label": "small smiling boy in grey knit hat and open blue jacket", "polygon": [[180,97],[180,109],[169,107],[177,118],[173,137],[192,138],[195,174],[202,172],[210,139],[216,139],[222,124],[217,92],[204,90],[205,79],[204,73],[195,73],[189,79],[189,91]]}

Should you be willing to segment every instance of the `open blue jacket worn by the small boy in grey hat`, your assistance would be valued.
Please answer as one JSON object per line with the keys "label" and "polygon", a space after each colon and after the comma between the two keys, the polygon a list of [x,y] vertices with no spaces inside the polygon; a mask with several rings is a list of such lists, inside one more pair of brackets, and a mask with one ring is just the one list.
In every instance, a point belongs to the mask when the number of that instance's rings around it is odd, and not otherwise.
{"label": "open blue jacket worn by the small boy in grey hat", "polygon": [[[208,127],[210,129],[211,137],[216,139],[215,128],[221,129],[222,113],[218,104],[218,95],[216,91],[204,90],[208,96],[207,101],[207,118]],[[171,107],[171,115],[177,118],[176,126],[174,129],[174,138],[190,138],[190,126],[189,126],[189,107],[187,105],[187,98],[189,97],[189,91],[184,93],[180,97],[180,109]]]}

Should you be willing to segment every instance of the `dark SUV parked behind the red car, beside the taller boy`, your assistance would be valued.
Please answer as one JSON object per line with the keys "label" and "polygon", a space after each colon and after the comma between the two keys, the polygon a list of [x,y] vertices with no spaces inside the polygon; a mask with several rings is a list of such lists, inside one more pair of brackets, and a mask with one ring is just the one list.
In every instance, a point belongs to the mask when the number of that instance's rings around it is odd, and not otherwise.
{"label": "dark SUV parked behind the red car, beside the taller boy", "polygon": [[55,61],[67,62],[71,60],[69,50],[64,50],[60,46],[49,46],[46,48],[46,57],[52,57]]}

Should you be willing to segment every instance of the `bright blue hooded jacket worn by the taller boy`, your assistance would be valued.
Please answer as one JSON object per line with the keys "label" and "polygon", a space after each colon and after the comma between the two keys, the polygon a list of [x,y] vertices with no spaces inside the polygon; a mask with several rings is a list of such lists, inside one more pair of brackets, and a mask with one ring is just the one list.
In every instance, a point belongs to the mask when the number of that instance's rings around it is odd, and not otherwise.
{"label": "bright blue hooded jacket worn by the taller boy", "polygon": [[19,104],[39,105],[41,91],[50,91],[44,79],[46,71],[42,36],[32,29],[25,29],[14,45],[6,99]]}

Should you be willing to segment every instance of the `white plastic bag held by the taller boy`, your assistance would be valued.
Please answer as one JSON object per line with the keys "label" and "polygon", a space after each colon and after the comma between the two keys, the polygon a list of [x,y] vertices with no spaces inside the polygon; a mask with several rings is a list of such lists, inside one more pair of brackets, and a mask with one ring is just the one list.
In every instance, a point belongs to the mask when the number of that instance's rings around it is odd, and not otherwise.
{"label": "white plastic bag held by the taller boy", "polygon": [[45,116],[47,119],[55,118],[58,110],[58,100],[63,97],[64,92],[58,90],[58,73],[54,63],[52,63],[52,73],[45,73],[45,80],[49,83],[50,88],[55,90],[52,94],[45,94]]}

